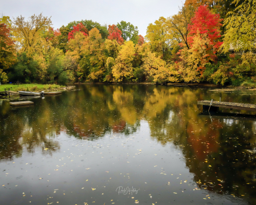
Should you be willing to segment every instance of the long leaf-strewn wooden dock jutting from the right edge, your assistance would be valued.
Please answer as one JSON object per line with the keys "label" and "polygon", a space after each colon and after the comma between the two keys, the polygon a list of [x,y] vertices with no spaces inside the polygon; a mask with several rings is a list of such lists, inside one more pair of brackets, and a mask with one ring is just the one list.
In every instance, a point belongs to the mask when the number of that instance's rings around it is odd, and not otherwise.
{"label": "long leaf-strewn wooden dock jutting from the right edge", "polygon": [[[204,108],[209,109],[211,101],[210,100],[202,100],[198,101],[198,105],[204,105]],[[244,103],[229,103],[229,102],[219,102],[213,101],[211,105],[211,109],[213,107],[217,108],[227,108],[227,109],[239,109],[239,110],[249,110],[256,112],[256,105],[255,104],[244,104]]]}

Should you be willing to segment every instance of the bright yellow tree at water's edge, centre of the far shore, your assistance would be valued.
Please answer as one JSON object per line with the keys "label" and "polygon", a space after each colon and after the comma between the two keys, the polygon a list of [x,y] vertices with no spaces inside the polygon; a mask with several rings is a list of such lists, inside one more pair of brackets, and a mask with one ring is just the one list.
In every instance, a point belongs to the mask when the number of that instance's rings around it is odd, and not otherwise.
{"label": "bright yellow tree at water's edge, centre of the far shore", "polygon": [[133,77],[132,61],[135,55],[135,45],[131,40],[125,42],[121,46],[121,50],[115,60],[115,65],[112,69],[113,78],[115,81],[123,82],[124,79]]}

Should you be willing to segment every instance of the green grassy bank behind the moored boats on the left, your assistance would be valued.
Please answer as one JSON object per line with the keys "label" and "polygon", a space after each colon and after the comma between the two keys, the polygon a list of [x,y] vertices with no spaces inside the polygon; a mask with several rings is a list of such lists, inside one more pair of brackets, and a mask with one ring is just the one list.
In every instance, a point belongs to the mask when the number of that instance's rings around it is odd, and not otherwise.
{"label": "green grassy bank behind the moored boats on the left", "polygon": [[22,85],[13,85],[13,84],[6,84],[0,85],[0,92],[1,91],[51,91],[51,90],[60,90],[66,86],[63,85],[55,85],[55,84],[22,84]]}

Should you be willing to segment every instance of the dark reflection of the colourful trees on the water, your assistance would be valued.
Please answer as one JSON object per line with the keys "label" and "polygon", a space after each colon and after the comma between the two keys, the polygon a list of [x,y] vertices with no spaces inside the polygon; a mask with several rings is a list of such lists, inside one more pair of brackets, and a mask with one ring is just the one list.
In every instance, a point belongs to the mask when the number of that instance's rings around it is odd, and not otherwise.
{"label": "dark reflection of the colourful trees on the water", "polygon": [[[152,140],[174,144],[201,189],[216,194],[249,195],[256,204],[255,118],[198,115],[198,100],[256,103],[251,95],[209,93],[200,88],[155,85],[79,85],[80,91],[46,96],[29,108],[1,106],[0,160],[21,157],[24,150],[52,154],[58,136],[95,140],[107,133],[129,135],[147,122]],[[248,101],[250,100],[250,101]],[[234,110],[225,110],[233,112]],[[241,111],[239,113],[246,113]],[[251,114],[251,113],[247,113]],[[47,151],[46,151],[47,149]]]}

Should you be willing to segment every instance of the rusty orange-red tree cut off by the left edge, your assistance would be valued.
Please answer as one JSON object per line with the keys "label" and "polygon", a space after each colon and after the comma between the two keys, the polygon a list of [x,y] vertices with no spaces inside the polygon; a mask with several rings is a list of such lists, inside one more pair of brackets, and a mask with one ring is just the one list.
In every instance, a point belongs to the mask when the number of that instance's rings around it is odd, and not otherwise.
{"label": "rusty orange-red tree cut off by the left edge", "polygon": [[3,70],[8,69],[16,61],[14,42],[9,35],[10,28],[0,23],[0,75],[3,83],[7,81],[6,72]]}

